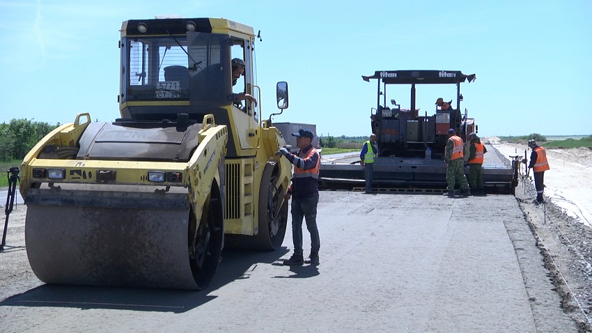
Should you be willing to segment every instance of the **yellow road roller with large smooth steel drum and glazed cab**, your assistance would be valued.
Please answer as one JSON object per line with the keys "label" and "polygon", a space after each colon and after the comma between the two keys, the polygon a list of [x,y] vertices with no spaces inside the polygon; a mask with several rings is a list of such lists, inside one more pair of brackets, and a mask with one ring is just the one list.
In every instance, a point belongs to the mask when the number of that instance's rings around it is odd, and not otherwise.
{"label": "yellow road roller with large smooth steel drum and glazed cab", "polygon": [[[281,246],[291,166],[255,102],[254,42],[231,20],[123,22],[121,118],[79,114],[22,163],[40,280],[201,289],[224,245]],[[286,82],[276,91],[283,111]]]}

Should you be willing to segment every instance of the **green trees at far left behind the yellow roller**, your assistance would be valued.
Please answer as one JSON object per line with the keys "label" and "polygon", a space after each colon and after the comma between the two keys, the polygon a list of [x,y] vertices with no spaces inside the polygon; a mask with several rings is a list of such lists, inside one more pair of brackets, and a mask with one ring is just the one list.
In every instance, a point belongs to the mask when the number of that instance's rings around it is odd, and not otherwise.
{"label": "green trees at far left behind the yellow roller", "polygon": [[59,125],[32,119],[13,119],[8,124],[0,124],[0,160],[24,159],[33,146]]}

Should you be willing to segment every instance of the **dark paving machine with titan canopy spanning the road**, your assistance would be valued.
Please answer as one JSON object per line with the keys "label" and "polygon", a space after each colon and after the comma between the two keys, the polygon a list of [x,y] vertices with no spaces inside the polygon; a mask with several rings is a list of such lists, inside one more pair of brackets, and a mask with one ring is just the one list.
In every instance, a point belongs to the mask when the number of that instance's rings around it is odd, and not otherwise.
{"label": "dark paving machine with titan canopy spanning the road", "polygon": [[[460,84],[474,82],[476,75],[457,70],[380,70],[362,79],[377,82],[377,104],[371,108],[370,115],[378,148],[373,187],[402,192],[444,189],[444,149],[449,129],[454,129],[465,142],[468,134],[478,130],[474,118],[468,118],[467,109],[460,111],[463,100]],[[401,107],[395,98],[389,98],[389,86],[394,84],[410,86],[409,107]],[[419,114],[416,89],[426,84],[455,85],[455,100],[451,101],[455,108],[437,108],[431,115]],[[485,156],[483,181],[490,192],[509,193],[515,187],[510,163],[495,152]],[[364,172],[357,164],[323,163],[319,182],[326,189],[363,188]]]}

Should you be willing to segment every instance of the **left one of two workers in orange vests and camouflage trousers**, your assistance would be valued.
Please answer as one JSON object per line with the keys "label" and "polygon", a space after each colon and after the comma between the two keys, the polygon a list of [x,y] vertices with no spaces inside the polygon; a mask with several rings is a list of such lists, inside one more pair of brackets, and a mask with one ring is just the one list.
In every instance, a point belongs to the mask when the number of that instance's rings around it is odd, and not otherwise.
{"label": "left one of two workers in orange vests and camouflage trousers", "polygon": [[465,162],[465,143],[456,135],[453,128],[448,130],[444,162],[446,162],[446,183],[448,183],[444,195],[454,196],[454,183],[457,179],[460,183],[460,195],[471,195],[469,182],[462,169]]}

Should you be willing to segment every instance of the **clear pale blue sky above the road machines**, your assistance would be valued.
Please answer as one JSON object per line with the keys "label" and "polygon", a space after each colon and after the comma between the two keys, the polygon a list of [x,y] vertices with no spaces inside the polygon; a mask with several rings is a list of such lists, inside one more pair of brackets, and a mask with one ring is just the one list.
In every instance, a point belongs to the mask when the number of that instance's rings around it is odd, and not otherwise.
{"label": "clear pale blue sky above the road machines", "polygon": [[[138,3],[141,3],[139,6]],[[592,134],[592,1],[30,1],[0,0],[0,122],[119,117],[121,23],[155,15],[225,17],[260,30],[263,116],[368,135],[375,70],[460,70],[462,109],[480,136]],[[425,88],[424,88],[425,87]],[[420,114],[455,86],[418,86]],[[409,107],[409,88],[400,93]],[[389,98],[395,98],[389,94]],[[455,103],[453,103],[455,105]]]}

